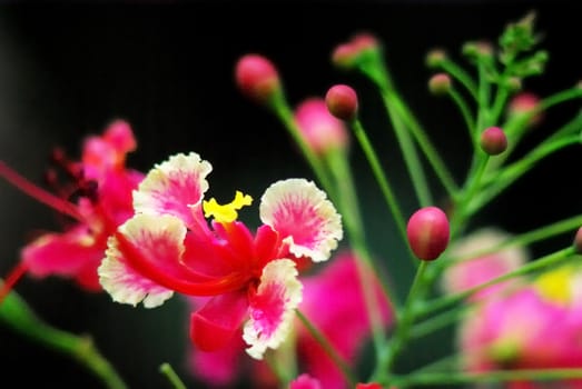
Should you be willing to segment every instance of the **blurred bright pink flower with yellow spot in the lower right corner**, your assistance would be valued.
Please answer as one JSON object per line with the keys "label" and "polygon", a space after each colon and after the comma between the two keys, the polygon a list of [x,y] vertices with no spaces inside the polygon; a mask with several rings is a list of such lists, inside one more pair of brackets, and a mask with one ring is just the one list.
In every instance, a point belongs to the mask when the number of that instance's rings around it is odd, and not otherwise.
{"label": "blurred bright pink flower with yellow spot in the lower right corner", "polygon": [[[484,300],[461,326],[458,346],[470,371],[582,367],[581,307],[555,303],[536,286]],[[560,388],[581,386],[569,380]]]}

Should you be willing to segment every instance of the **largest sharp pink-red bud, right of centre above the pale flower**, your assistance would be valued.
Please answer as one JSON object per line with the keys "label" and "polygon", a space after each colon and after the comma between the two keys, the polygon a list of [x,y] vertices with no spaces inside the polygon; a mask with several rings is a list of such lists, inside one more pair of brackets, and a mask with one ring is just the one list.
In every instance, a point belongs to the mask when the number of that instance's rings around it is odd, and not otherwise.
{"label": "largest sharp pink-red bud, right of centre above the pale flower", "polygon": [[421,208],[408,219],[406,235],[414,255],[423,261],[432,261],[448,245],[448,219],[440,208]]}

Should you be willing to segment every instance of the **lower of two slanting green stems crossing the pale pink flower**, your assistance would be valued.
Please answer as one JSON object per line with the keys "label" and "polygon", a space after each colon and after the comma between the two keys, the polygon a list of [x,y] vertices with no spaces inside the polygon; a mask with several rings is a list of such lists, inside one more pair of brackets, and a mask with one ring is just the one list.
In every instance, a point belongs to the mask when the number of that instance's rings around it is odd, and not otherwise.
{"label": "lower of two slanting green stems crossing the pale pink flower", "polygon": [[438,311],[443,308],[446,308],[448,306],[461,302],[464,299],[466,299],[467,297],[471,297],[471,296],[480,292],[481,290],[489,288],[493,285],[510,280],[512,278],[525,276],[525,275],[532,273],[537,270],[545,269],[545,268],[556,265],[563,260],[571,259],[575,255],[576,255],[576,251],[573,247],[568,247],[565,249],[559,250],[556,252],[542,257],[537,260],[523,265],[521,268],[519,268],[516,270],[506,272],[487,282],[481,283],[476,287],[473,287],[473,288],[462,291],[460,293],[445,296],[445,297],[435,299],[433,301],[427,301],[424,303],[424,307],[418,311],[418,315],[426,316],[426,315],[430,315],[431,312]]}

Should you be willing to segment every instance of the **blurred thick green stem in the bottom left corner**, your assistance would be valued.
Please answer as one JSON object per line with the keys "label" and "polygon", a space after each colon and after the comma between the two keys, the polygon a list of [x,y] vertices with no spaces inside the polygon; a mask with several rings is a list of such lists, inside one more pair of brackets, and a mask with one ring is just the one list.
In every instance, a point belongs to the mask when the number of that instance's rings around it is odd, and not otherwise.
{"label": "blurred thick green stem in the bottom left corner", "polygon": [[0,321],[14,332],[77,360],[97,376],[107,388],[127,388],[90,338],[75,336],[45,323],[14,291],[10,292],[0,306]]}

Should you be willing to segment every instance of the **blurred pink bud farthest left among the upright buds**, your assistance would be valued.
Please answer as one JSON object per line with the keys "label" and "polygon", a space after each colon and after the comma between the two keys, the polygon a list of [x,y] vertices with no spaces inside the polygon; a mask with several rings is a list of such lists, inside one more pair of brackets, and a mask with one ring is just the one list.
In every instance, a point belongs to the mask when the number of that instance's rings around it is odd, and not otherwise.
{"label": "blurred pink bud farthest left among the upright buds", "polygon": [[236,64],[235,78],[240,91],[260,103],[268,102],[280,92],[277,69],[270,60],[259,54],[243,56]]}

